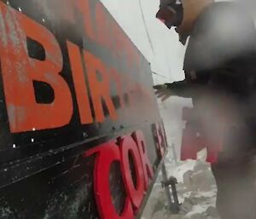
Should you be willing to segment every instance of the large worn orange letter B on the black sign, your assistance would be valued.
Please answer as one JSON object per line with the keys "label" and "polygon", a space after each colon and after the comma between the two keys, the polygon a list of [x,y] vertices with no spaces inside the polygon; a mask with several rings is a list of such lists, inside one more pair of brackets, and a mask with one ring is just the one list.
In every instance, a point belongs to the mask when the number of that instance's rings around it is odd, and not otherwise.
{"label": "large worn orange letter B on the black sign", "polygon": [[[0,3],[0,14],[0,56],[11,132],[44,130],[68,124],[73,102],[67,83],[60,76],[63,61],[55,37],[44,26],[4,3]],[[44,61],[29,57],[26,37],[44,47]],[[52,103],[36,102],[33,81],[51,86],[55,94]]]}

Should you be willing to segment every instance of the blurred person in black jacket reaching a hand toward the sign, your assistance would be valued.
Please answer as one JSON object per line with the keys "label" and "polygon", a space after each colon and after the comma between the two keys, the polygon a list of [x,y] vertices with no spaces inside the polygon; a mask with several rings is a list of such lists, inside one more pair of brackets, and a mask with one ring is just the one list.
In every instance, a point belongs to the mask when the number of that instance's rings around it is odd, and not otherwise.
{"label": "blurred person in black jacket reaching a hand toward the sign", "polygon": [[[207,147],[208,157],[218,153],[209,161],[218,186],[221,218],[256,218],[253,18],[237,3],[212,0],[161,0],[156,16],[168,28],[176,26],[180,41],[188,42],[185,79],[156,85],[156,95],[163,101],[171,95],[192,98],[194,108],[187,127],[203,139],[197,142]],[[189,149],[183,150],[184,158],[189,158]]]}

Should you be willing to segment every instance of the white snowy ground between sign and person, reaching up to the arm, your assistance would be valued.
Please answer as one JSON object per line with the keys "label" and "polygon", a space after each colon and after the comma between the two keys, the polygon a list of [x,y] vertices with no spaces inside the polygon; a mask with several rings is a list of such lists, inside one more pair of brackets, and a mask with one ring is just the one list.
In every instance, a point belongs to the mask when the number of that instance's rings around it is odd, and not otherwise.
{"label": "white snowy ground between sign and person, reaching up to the arm", "polygon": [[[166,103],[160,103],[160,112],[164,118],[169,145],[174,144],[177,155],[180,153],[182,130],[181,109],[191,106],[189,100],[171,98]],[[165,189],[161,187],[162,175],[154,184],[152,194],[144,210],[143,219],[218,219],[215,208],[217,187],[212,176],[210,164],[205,160],[205,152],[198,154],[198,160],[185,162],[173,160],[172,148],[166,157],[168,176],[177,178],[177,193],[182,204],[180,213],[173,215],[167,209]]]}

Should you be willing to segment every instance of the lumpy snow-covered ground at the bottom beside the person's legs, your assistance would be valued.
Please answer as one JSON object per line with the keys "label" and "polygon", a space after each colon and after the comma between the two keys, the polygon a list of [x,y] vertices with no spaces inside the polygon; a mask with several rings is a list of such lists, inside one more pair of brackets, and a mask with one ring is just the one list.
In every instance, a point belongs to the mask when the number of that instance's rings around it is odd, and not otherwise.
{"label": "lumpy snow-covered ground at the bottom beside the person's legs", "polygon": [[180,213],[174,215],[167,209],[166,193],[161,187],[160,174],[148,199],[143,219],[218,219],[215,208],[217,188],[209,164],[201,160],[175,164],[169,158],[166,159],[168,176],[177,177]]}

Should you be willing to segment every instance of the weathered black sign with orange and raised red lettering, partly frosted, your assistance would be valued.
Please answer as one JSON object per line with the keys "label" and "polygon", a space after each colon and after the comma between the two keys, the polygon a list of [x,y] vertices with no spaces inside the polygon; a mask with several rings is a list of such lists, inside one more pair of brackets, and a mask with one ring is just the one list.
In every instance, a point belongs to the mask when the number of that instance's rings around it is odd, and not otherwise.
{"label": "weathered black sign with orange and raised red lettering, partly frosted", "polygon": [[139,217],[166,151],[148,62],[96,0],[0,1],[0,218]]}

